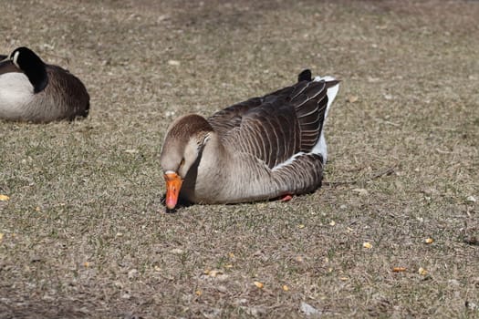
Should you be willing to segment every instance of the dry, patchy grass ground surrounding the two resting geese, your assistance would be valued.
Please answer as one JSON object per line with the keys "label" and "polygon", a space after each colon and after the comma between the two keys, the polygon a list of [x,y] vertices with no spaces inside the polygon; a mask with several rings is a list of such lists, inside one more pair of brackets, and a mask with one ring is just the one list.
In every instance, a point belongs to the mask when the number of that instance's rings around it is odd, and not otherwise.
{"label": "dry, patchy grass ground surrounding the two resting geese", "polygon": [[[0,5],[0,53],[32,47],[92,102],[0,122],[0,318],[479,317],[479,2]],[[172,118],[304,67],[342,80],[324,187],[166,214]]]}

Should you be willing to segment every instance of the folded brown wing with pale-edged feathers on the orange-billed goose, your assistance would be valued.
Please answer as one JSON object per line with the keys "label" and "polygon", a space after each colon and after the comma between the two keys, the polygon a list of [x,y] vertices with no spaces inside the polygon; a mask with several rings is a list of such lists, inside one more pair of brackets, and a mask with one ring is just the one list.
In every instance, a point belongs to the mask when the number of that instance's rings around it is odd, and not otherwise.
{"label": "folded brown wing with pale-edged feathers on the orange-billed goose", "polygon": [[[318,143],[328,104],[327,90],[337,83],[303,80],[265,97],[252,98],[213,115],[213,129],[219,129],[231,149],[251,154],[273,169],[298,152],[310,152]],[[231,121],[218,125],[219,118],[228,117]]]}

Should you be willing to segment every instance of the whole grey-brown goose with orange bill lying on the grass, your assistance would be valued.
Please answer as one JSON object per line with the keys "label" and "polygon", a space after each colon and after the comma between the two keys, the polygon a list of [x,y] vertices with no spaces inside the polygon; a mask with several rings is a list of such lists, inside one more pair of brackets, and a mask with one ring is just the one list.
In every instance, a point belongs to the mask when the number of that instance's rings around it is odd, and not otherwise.
{"label": "whole grey-brown goose with orange bill lying on the grass", "polygon": [[160,164],[165,204],[289,200],[321,186],[327,161],[323,126],[338,94],[333,77],[311,77],[250,98],[210,118],[188,114],[166,131]]}

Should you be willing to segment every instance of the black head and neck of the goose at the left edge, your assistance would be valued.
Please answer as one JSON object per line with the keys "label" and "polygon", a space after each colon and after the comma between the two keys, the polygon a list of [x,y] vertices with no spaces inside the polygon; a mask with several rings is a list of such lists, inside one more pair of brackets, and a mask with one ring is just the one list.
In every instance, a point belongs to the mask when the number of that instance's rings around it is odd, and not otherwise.
{"label": "black head and neck of the goose at the left edge", "polygon": [[47,87],[47,65],[42,59],[36,56],[36,53],[26,46],[17,47],[8,58],[21,69],[30,83],[34,87],[34,92],[38,93]]}

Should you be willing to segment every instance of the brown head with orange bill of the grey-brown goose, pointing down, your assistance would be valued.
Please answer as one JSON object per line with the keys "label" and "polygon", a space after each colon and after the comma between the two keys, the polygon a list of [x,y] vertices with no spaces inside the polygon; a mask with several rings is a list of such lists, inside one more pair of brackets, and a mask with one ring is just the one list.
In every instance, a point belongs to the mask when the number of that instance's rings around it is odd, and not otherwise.
{"label": "brown head with orange bill of the grey-brown goose, pointing down", "polygon": [[166,181],[166,207],[174,209],[182,183],[201,160],[204,145],[213,132],[208,121],[196,114],[176,119],[167,130],[161,147],[160,164]]}

